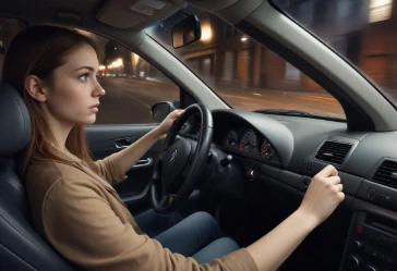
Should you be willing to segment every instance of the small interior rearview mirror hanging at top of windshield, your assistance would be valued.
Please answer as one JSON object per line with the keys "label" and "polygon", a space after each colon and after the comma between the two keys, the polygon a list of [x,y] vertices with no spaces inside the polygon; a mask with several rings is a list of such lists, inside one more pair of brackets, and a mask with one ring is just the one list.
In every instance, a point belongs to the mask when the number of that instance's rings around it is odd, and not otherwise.
{"label": "small interior rearview mirror hanging at top of windshield", "polygon": [[202,29],[195,15],[183,19],[172,28],[172,46],[176,49],[190,45],[201,39],[201,37]]}

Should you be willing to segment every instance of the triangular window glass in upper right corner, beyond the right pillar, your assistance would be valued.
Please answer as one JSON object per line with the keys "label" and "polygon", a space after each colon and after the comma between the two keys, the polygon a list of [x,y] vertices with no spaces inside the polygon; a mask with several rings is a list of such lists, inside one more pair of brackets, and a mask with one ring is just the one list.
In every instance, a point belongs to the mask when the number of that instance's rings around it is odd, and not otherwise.
{"label": "triangular window glass in upper right corner, beyond the right pillar", "polygon": [[273,0],[356,65],[397,106],[397,7],[393,0]]}

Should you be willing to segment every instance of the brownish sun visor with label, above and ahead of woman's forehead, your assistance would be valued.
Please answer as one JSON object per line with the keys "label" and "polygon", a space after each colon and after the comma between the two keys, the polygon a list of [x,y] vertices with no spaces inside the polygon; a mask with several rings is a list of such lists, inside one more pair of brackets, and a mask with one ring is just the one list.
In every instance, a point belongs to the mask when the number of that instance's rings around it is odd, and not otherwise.
{"label": "brownish sun visor with label, above and ahead of woman's forehead", "polygon": [[183,8],[183,0],[108,0],[96,17],[113,27],[141,30]]}

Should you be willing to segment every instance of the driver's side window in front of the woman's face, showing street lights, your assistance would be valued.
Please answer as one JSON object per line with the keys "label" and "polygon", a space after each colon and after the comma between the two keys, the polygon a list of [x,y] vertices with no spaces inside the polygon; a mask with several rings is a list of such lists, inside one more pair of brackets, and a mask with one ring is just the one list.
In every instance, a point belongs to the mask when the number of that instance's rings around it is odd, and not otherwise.
{"label": "driver's side window in front of the woman's face, showing street lights", "polygon": [[179,87],[160,71],[117,42],[83,32],[94,38],[101,52],[98,79],[106,95],[95,124],[157,123],[152,106],[160,101],[179,104]]}

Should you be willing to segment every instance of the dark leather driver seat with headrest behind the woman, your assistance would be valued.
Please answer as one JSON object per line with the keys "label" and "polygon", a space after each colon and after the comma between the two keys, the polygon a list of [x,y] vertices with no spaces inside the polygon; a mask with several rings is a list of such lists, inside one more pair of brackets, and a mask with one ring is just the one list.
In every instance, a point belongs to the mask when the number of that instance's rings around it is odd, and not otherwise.
{"label": "dark leather driver seat with headrest behind the woman", "polygon": [[0,270],[77,270],[35,232],[27,195],[12,159],[31,136],[31,119],[21,95],[0,83]]}

